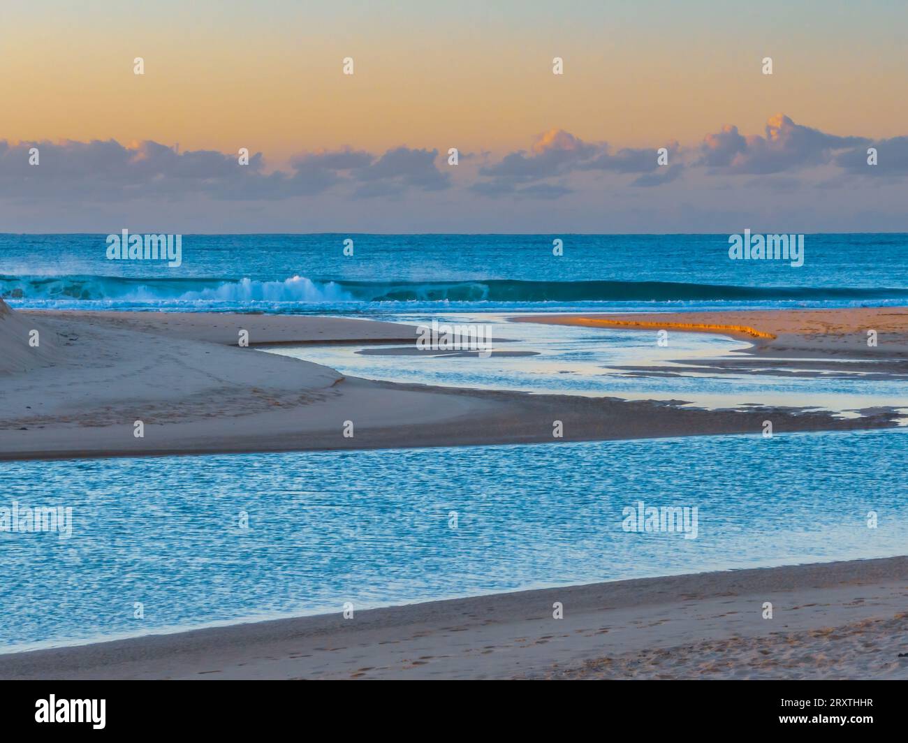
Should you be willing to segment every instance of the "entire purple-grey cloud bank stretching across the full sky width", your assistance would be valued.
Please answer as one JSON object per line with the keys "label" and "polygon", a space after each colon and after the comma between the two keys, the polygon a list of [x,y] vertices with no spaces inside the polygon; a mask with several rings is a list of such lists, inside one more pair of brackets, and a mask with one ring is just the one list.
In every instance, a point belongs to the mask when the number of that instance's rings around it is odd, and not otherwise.
{"label": "entire purple-grey cloud bank stretching across the full sky width", "polygon": [[[878,164],[868,165],[867,147]],[[657,150],[666,146],[668,164]],[[29,150],[40,164],[29,164]],[[745,135],[734,125],[706,134],[702,142],[676,142],[613,149],[587,142],[564,129],[538,134],[525,149],[498,159],[482,149],[469,164],[445,164],[437,149],[407,146],[371,153],[351,147],[297,154],[280,169],[266,166],[262,153],[240,165],[234,153],[181,152],[156,142],[115,140],[8,142],[0,140],[0,200],[35,210],[46,203],[75,212],[93,205],[125,202],[185,203],[193,200],[249,203],[250,208],[288,199],[330,194],[345,199],[400,199],[413,193],[457,190],[484,198],[555,200],[602,192],[608,184],[656,189],[684,178],[686,186],[708,187],[709,176],[724,175],[723,188],[772,188],[781,192],[842,182],[842,176],[896,179],[908,175],[908,136],[873,141],[826,134],[796,124],[784,114],[771,117],[764,134]],[[802,173],[823,166],[823,173]],[[746,177],[741,177],[746,176]],[[733,182],[731,179],[735,178]],[[783,178],[784,180],[779,180]],[[774,180],[775,179],[775,180]],[[716,181],[713,181],[716,183]],[[233,208],[233,207],[230,207]]]}

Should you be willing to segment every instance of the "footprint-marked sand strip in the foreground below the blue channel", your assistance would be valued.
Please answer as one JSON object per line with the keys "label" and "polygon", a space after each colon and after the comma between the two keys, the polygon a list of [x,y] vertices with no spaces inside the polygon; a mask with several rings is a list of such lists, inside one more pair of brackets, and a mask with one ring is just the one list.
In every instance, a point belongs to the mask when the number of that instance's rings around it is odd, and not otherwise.
{"label": "footprint-marked sand strip in the foreground below the blue channel", "polygon": [[0,678],[908,679],[905,599],[904,556],[720,570],[4,653]]}

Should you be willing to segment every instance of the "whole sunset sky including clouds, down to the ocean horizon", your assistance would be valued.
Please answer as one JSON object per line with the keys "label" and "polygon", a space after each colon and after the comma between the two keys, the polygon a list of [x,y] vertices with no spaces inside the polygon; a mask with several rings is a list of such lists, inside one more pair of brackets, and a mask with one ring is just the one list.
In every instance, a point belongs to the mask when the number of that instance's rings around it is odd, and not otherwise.
{"label": "whole sunset sky including clouds, down to the ocean horizon", "polygon": [[908,231],[906,22],[895,0],[4,0],[0,232]]}

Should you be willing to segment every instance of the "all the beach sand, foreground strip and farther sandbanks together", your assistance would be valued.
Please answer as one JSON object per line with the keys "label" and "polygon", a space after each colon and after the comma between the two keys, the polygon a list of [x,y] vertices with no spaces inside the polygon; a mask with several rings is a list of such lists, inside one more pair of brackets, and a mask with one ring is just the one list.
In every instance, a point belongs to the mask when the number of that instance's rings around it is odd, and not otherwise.
{"label": "all the beach sand, foreground strip and farther sandbanks together", "polygon": [[[370,381],[259,350],[406,348],[417,328],[395,322],[0,309],[0,456],[9,461],[552,442],[556,420],[558,441],[596,441],[759,436],[767,416],[776,431],[889,428],[897,419],[894,408],[841,418]],[[904,308],[512,320],[746,338],[740,359],[700,361],[717,372],[764,357],[900,378],[906,363]],[[870,327],[876,346],[864,340]],[[33,330],[38,349],[27,345]],[[237,344],[241,332],[249,347]],[[618,580],[6,653],[0,678],[903,679],[906,592],[908,558]],[[763,618],[767,601],[773,619]],[[563,619],[553,618],[556,602]]]}

